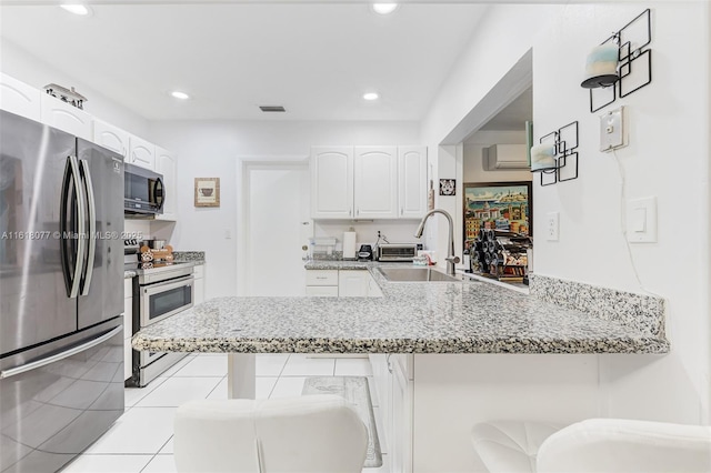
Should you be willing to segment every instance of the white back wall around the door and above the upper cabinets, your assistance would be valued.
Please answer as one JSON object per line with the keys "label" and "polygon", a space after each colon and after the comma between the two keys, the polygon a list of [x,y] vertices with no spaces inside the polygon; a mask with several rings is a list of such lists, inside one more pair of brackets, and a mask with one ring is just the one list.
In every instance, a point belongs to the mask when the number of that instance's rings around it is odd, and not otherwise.
{"label": "white back wall around the door and above the upper cabinets", "polygon": [[[420,144],[415,122],[168,121],[150,123],[150,139],[178,155],[179,221],[168,238],[177,250],[206,251],[207,298],[237,291],[240,159],[307,158],[311,145]],[[220,178],[220,207],[193,207],[194,178],[212,177]],[[342,236],[349,225],[324,224],[319,231]],[[374,242],[368,236],[372,230],[361,225],[357,230],[363,229],[362,238]],[[400,224],[383,224],[378,230],[393,241],[401,232],[414,233],[417,222],[411,225],[409,232]],[[226,231],[231,239],[224,238]]]}

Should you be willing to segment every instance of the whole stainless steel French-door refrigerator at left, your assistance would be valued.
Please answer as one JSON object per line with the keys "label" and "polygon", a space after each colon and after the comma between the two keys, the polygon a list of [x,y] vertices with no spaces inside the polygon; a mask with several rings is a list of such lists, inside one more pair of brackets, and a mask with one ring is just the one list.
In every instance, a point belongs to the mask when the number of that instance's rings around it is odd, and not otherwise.
{"label": "whole stainless steel French-door refrigerator at left", "polygon": [[54,472],[123,413],[123,159],[0,111],[0,471]]}

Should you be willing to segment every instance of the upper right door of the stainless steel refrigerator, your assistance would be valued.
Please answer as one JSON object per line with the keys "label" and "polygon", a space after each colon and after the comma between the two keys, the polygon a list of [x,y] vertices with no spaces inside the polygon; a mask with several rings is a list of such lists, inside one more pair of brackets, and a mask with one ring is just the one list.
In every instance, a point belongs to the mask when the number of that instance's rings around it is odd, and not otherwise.
{"label": "upper right door of the stainless steel refrigerator", "polygon": [[123,312],[123,158],[77,140],[89,241],[79,295],[79,329]]}

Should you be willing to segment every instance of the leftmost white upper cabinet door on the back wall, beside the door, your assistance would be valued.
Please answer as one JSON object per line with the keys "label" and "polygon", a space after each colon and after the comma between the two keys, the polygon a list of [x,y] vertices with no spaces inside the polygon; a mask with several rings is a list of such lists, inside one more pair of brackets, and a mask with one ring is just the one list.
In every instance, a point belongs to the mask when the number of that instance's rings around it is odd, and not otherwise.
{"label": "leftmost white upper cabinet door on the back wall, beside the door", "polygon": [[311,149],[311,217],[353,218],[353,148]]}

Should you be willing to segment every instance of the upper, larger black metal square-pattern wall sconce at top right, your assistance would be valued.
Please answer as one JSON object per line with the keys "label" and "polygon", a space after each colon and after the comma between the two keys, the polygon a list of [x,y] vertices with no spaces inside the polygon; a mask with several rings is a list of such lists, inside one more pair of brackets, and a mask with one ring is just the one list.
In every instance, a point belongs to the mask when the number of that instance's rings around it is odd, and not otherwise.
{"label": "upper, larger black metal square-pattern wall sconce at top right", "polygon": [[[635,44],[641,44],[633,48],[633,39],[637,40]],[[581,87],[590,89],[590,112],[594,113],[614,102],[618,97],[624,98],[652,82],[652,50],[644,49],[651,42],[651,10],[647,9],[600,44],[618,47],[618,79],[605,76],[607,79],[591,77],[583,81]],[[633,73],[639,78],[637,82],[632,80]]]}

